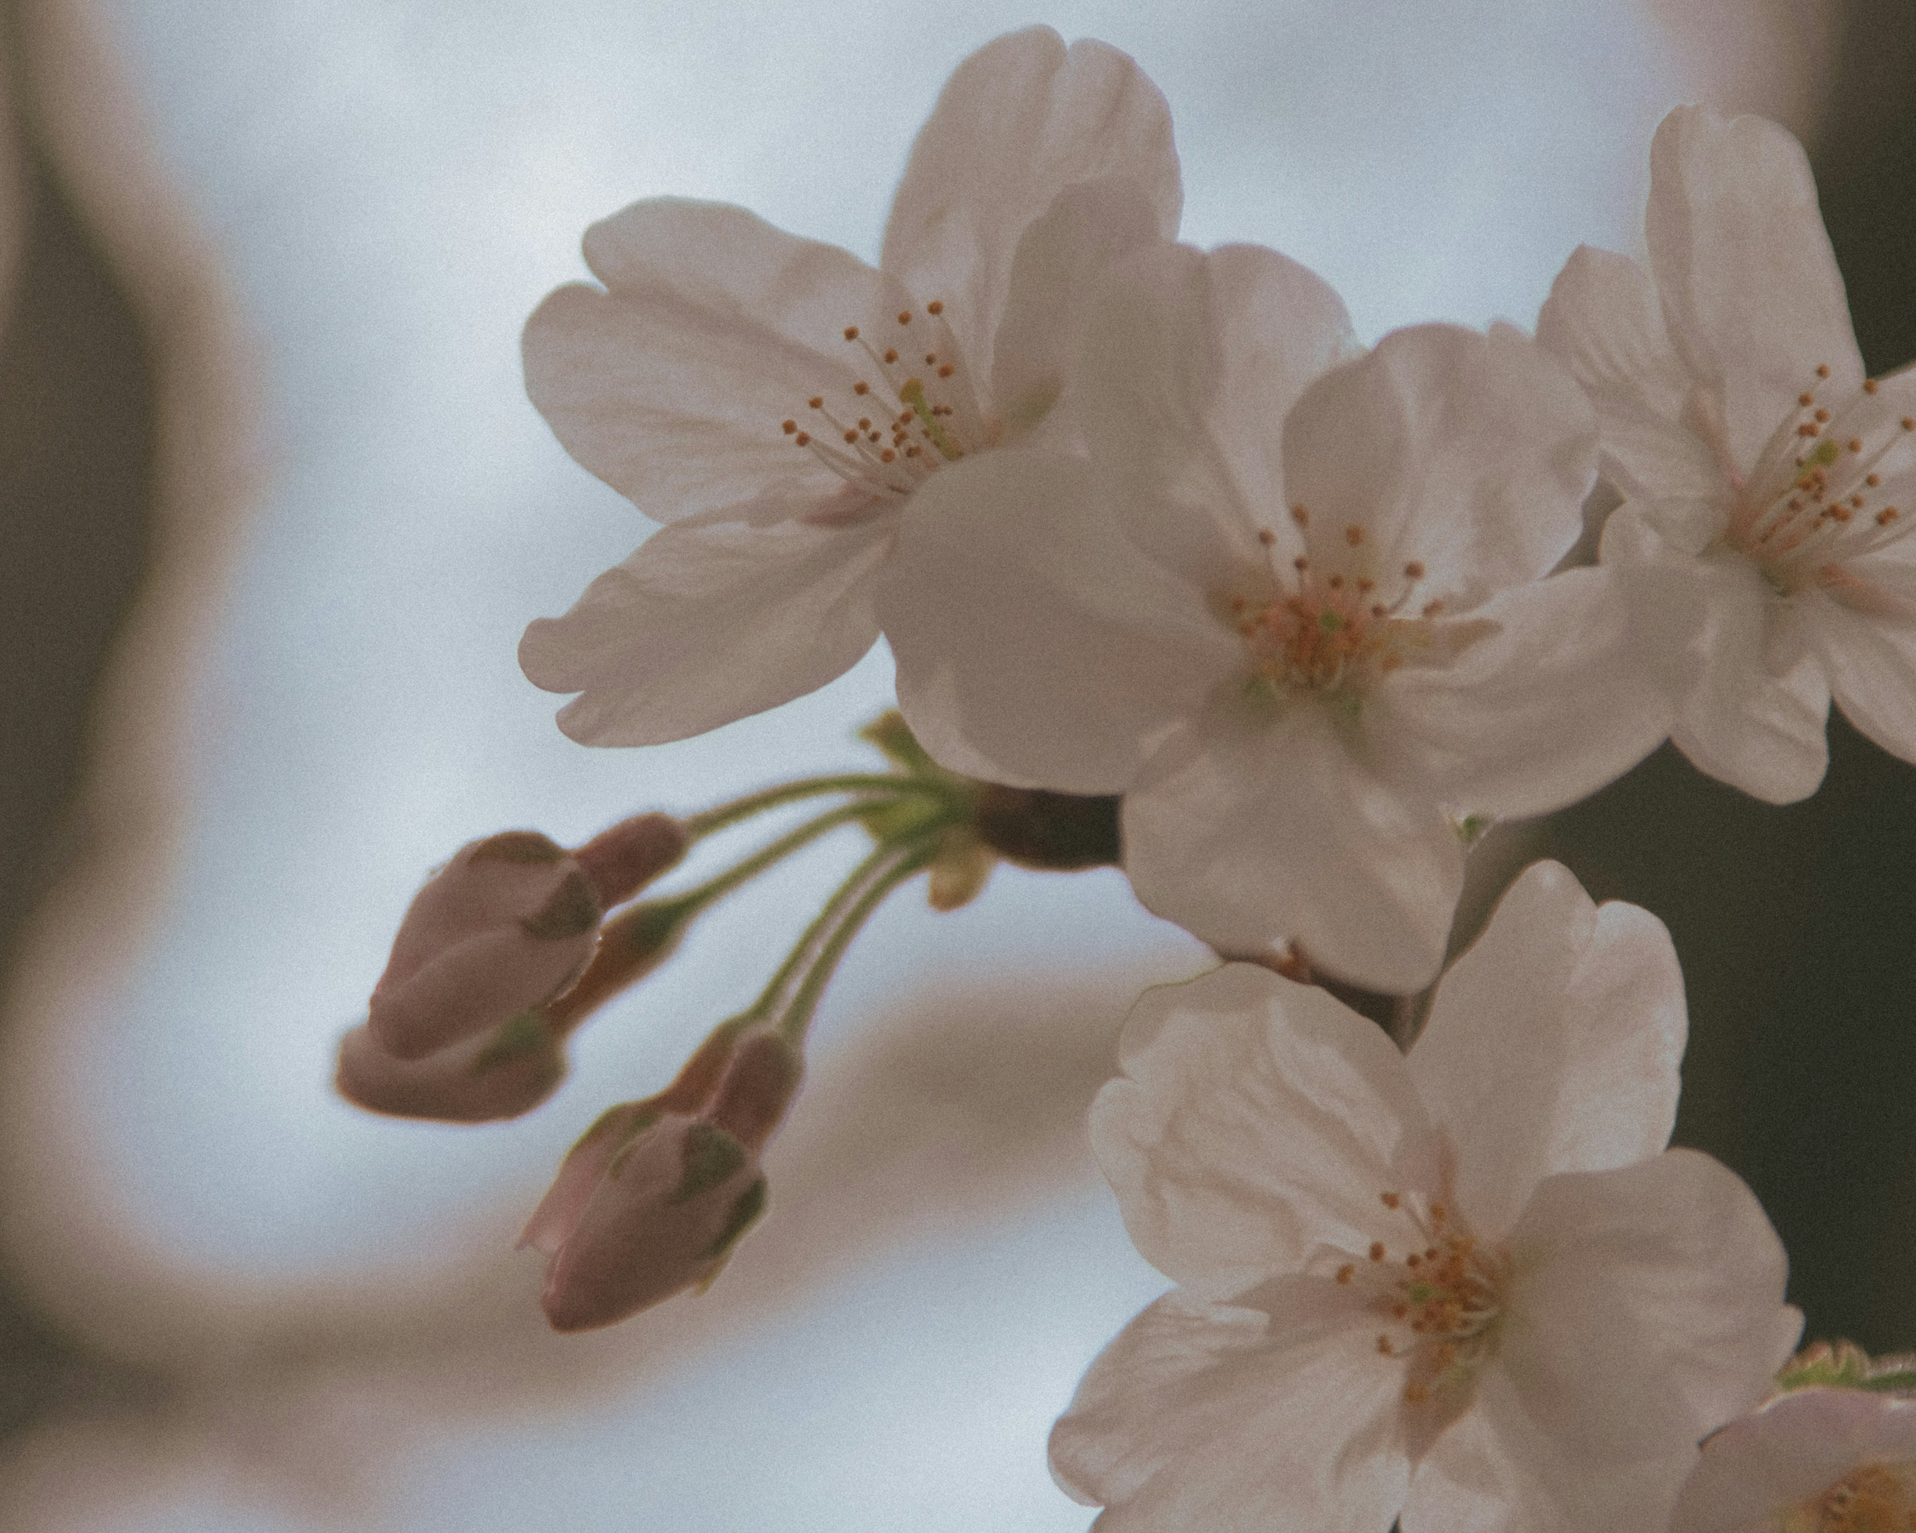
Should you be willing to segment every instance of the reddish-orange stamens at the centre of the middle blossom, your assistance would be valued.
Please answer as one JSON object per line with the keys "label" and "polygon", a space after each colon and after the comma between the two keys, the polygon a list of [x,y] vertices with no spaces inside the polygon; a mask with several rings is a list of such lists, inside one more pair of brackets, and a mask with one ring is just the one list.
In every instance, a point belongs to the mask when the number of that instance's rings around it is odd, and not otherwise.
{"label": "reddish-orange stamens at the centre of the middle blossom", "polygon": [[[1291,506],[1299,527],[1311,525],[1311,512]],[[1276,535],[1259,533],[1268,548]],[[1309,692],[1362,690],[1380,675],[1404,663],[1404,653],[1424,642],[1420,619],[1443,611],[1441,602],[1426,602],[1412,613],[1424,565],[1408,560],[1387,584],[1389,600],[1378,586],[1376,558],[1364,529],[1345,527],[1347,569],[1318,571],[1307,554],[1291,560],[1291,586],[1274,602],[1230,600],[1232,623],[1251,652],[1253,675],[1272,688]]]}

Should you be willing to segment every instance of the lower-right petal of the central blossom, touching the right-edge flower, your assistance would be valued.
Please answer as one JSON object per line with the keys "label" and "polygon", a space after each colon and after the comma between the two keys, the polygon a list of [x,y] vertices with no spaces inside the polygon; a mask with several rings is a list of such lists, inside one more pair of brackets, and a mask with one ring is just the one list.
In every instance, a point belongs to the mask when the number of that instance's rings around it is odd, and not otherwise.
{"label": "lower-right petal of the central blossom, touching the right-edge flower", "polygon": [[1380,770],[1441,803],[1546,814],[1623,776],[1669,734],[1631,592],[1569,569],[1477,609],[1494,629],[1450,665],[1408,665],[1364,703]]}

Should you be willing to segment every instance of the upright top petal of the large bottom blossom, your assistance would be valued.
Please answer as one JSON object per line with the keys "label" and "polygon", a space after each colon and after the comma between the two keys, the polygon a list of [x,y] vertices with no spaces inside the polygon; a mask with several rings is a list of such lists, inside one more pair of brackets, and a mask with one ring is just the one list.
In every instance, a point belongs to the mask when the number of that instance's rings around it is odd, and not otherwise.
{"label": "upright top petal of the large bottom blossom", "polygon": [[1669,1144],[1688,1018],[1669,931],[1537,862],[1437,985],[1410,1079],[1456,1154],[1470,1228],[1502,1238],[1544,1177]]}

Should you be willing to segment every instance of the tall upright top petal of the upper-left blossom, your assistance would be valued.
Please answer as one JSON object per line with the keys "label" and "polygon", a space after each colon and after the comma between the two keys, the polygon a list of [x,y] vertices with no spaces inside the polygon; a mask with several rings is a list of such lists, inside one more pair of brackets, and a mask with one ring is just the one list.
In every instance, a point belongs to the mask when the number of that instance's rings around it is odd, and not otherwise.
{"label": "tall upright top petal of the upper-left blossom", "polygon": [[1107,176],[1134,180],[1157,232],[1176,236],[1184,192],[1157,86],[1104,42],[1065,48],[1050,27],[1000,36],[958,65],[918,130],[879,264],[943,301],[989,378],[1019,236],[1067,186]]}

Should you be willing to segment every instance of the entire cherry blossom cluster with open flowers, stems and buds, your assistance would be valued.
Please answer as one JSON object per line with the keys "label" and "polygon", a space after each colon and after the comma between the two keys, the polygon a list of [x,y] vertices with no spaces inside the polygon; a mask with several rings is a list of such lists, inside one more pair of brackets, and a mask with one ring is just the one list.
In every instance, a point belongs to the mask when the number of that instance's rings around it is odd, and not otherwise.
{"label": "entire cherry blossom cluster with open flowers, stems and buds", "polygon": [[[759,1002],[607,1111],[533,1215],[554,1326],[607,1324],[709,1284],[764,1211],[807,1025],[893,889],[924,872],[948,910],[996,860],[1119,864],[1224,962],[1144,996],[1092,1110],[1176,1282],[1052,1435],[1100,1525],[1916,1527],[1891,1374],[1778,1384],[1801,1316],[1776,1234],[1669,1148],[1663,926],[1539,864],[1445,972],[1485,826],[1665,738],[1786,803],[1820,782],[1834,698],[1916,761],[1916,370],[1864,378],[1803,151],[1671,113],[1648,272],[1579,249],[1535,335],[1364,347],[1318,276],[1178,243],[1178,209],[1157,90],[1035,27],[952,75],[876,268],[711,203],[588,230],[598,286],[533,314],[527,385],[667,525],[533,623],[527,675],[577,694],[573,738],[646,745],[883,636],[889,770],[577,853],[473,843],[408,912],[341,1090],[523,1111],[701,910],[868,832]],[[1621,504],[1579,563],[1600,481]],[[812,799],[605,916],[692,841]],[[1395,1039],[1353,991],[1399,998]]]}

